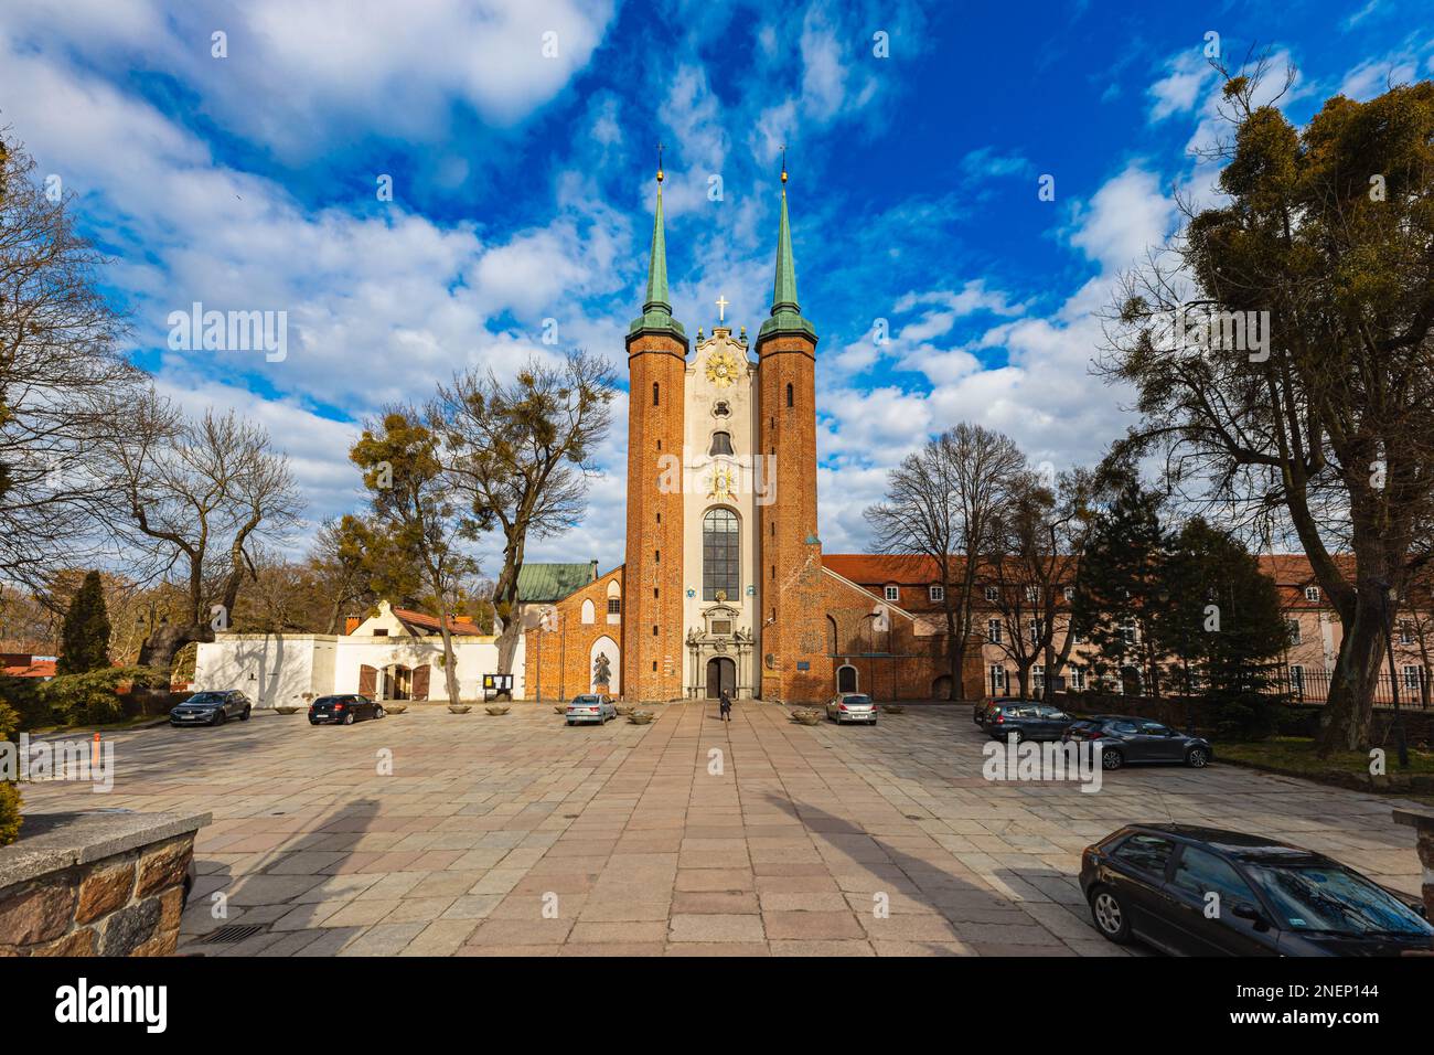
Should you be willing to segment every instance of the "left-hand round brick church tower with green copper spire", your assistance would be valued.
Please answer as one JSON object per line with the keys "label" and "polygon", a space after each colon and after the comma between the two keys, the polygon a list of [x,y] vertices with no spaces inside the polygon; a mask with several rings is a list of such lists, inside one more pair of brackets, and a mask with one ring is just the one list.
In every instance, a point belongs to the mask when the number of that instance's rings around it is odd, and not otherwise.
{"label": "left-hand round brick church tower with green copper spire", "polygon": [[[683,695],[683,456],[687,334],[673,319],[663,234],[663,169],[642,316],[628,327],[628,502],[622,599],[624,696]],[[675,477],[675,478],[674,478]]]}

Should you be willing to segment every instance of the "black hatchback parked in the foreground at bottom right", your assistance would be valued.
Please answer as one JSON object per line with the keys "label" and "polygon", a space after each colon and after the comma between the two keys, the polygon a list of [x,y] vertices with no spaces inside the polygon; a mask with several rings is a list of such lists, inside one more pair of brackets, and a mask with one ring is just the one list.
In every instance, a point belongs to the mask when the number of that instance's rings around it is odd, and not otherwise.
{"label": "black hatchback parked in the foreground at bottom right", "polygon": [[1434,949],[1411,907],[1322,854],[1186,824],[1133,824],[1081,855],[1096,929],[1183,956],[1398,956]]}

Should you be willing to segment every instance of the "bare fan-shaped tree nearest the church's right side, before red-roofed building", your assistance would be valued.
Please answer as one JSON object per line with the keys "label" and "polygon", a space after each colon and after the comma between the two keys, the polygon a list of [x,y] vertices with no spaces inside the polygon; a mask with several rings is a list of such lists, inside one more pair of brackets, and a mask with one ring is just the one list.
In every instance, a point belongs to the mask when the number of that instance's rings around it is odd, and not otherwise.
{"label": "bare fan-shaped tree nearest the church's right side, before red-roofed building", "polygon": [[961,675],[979,570],[1008,489],[1024,472],[1015,441],[962,422],[906,455],[888,474],[886,500],[866,510],[878,548],[921,554],[936,568],[954,699],[965,698]]}

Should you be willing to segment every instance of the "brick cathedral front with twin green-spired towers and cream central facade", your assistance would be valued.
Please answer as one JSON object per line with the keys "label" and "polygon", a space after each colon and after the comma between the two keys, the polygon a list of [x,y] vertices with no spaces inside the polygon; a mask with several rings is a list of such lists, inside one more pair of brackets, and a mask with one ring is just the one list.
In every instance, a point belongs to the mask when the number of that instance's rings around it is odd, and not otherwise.
{"label": "brick cathedral front with twin green-spired towers and cream central facade", "polygon": [[718,326],[691,339],[668,299],[658,172],[647,296],[627,336],[625,563],[525,599],[531,695],[815,702],[858,690],[880,656],[888,679],[926,696],[942,673],[931,627],[823,561],[819,337],[797,300],[786,172],[782,184],[769,317],[734,334],[720,303]]}

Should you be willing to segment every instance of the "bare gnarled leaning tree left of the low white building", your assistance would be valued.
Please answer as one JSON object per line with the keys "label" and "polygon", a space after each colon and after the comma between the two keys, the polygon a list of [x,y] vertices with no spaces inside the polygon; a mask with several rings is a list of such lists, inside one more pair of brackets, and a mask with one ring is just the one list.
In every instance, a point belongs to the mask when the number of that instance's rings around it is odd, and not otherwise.
{"label": "bare gnarled leaning tree left of the low white building", "polygon": [[228,626],[255,547],[285,538],[301,502],[288,459],[234,412],[186,419],[151,392],[115,413],[129,425],[109,445],[129,517],[122,534],[182,589],[184,610],[151,627],[139,650],[142,665],[169,669],[181,647]]}

